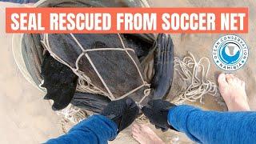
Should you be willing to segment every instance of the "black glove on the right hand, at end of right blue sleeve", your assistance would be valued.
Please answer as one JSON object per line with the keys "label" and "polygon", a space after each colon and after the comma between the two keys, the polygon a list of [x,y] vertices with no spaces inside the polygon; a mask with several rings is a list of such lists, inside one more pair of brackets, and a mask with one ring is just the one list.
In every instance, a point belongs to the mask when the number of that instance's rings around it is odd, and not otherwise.
{"label": "black glove on the right hand, at end of right blue sleeve", "polygon": [[142,107],[142,112],[157,129],[161,128],[162,131],[166,131],[169,128],[175,130],[167,122],[168,112],[171,107],[175,106],[174,104],[158,99],[151,100],[148,102],[148,105],[149,106]]}

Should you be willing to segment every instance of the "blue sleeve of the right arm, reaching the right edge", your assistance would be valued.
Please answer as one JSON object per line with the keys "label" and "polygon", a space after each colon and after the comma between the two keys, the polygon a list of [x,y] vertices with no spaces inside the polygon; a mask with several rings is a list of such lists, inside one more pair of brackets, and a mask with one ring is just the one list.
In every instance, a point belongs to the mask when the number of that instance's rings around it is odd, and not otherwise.
{"label": "blue sleeve of the right arm, reaching the right edge", "polygon": [[182,105],[170,108],[168,122],[195,142],[256,142],[255,112],[218,112]]}

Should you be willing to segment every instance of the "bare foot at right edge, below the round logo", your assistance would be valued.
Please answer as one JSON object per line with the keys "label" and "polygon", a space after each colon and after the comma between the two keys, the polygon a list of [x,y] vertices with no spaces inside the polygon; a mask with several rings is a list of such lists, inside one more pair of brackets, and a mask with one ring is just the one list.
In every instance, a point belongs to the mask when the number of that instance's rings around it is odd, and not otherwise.
{"label": "bare foot at right edge, below the round logo", "polygon": [[247,102],[246,84],[233,74],[218,76],[219,91],[230,111],[249,111]]}

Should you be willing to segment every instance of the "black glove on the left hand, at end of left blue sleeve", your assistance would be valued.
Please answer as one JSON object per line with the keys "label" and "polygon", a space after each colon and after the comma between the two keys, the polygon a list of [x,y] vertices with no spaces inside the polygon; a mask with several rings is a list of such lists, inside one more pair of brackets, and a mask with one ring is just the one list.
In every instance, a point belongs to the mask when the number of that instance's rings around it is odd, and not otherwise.
{"label": "black glove on the left hand, at end of left blue sleeve", "polygon": [[131,98],[123,98],[118,101],[110,102],[104,110],[102,115],[110,118],[118,126],[118,133],[130,126],[134,119],[138,116],[138,106]]}

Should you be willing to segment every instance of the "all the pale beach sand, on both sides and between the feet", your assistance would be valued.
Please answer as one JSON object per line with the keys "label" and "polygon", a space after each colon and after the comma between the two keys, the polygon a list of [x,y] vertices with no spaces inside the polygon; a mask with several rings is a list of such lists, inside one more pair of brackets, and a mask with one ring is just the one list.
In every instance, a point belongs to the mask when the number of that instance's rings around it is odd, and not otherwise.
{"label": "all the pale beach sand, on both sides and between the feet", "polygon": [[[51,110],[49,102],[43,100],[43,94],[36,88],[26,82],[25,78],[19,72],[18,67],[15,65],[14,58],[11,51],[11,37],[12,34],[5,33],[5,10],[6,6],[19,6],[17,4],[10,4],[0,2],[0,143],[39,143],[45,142],[49,138],[57,137],[62,134],[60,126],[60,117]],[[249,7],[250,12],[250,26],[248,34],[238,34],[243,38],[249,46],[250,55],[248,61],[242,69],[234,72],[239,78],[246,82],[246,92],[249,98],[250,108],[256,110],[256,97],[255,82],[256,82],[256,67],[255,59],[256,47],[255,37],[255,7],[254,0],[162,0],[152,1],[151,6],[156,7],[206,7],[206,6],[229,6],[229,7]],[[214,65],[211,59],[211,49],[214,42],[224,34],[171,34],[174,40],[175,55],[179,58],[184,57],[187,51],[194,54],[196,58],[208,57],[210,58],[211,67],[209,78],[215,82],[216,74],[222,72]],[[174,75],[177,78],[177,74]],[[175,87],[176,81],[174,81]],[[171,96],[175,93],[170,94]],[[222,107],[214,102],[214,98],[210,95],[205,97],[206,104],[203,105],[207,110],[222,110]],[[193,105],[197,105],[192,103]],[[199,104],[200,105],[200,104]],[[200,105],[202,106],[202,105]],[[153,126],[152,126],[153,127]],[[174,134],[169,132],[162,133],[155,130],[157,134],[165,139],[166,142]],[[182,143],[190,143],[184,135],[180,136]],[[130,137],[130,129],[126,130],[126,134],[120,134],[114,142],[111,143],[136,143]]]}

